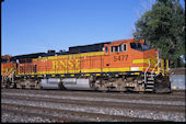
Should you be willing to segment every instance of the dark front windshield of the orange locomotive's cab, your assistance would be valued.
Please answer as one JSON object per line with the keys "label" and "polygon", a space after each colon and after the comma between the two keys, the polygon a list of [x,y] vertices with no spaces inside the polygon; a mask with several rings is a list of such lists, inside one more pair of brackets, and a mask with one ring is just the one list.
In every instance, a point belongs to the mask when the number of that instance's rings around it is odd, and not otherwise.
{"label": "dark front windshield of the orange locomotive's cab", "polygon": [[130,47],[136,50],[148,50],[150,47],[147,44],[130,43]]}

